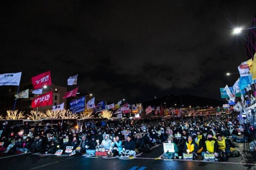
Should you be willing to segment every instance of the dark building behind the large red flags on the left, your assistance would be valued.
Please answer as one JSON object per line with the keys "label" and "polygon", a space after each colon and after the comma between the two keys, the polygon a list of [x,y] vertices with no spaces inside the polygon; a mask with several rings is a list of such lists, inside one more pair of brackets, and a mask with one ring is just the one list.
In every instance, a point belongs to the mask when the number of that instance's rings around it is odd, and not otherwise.
{"label": "dark building behind the large red flags on the left", "polygon": [[[0,86],[0,115],[5,115],[6,110],[12,110],[15,103],[15,96],[17,94],[18,86]],[[25,114],[29,113],[30,110],[37,110],[37,108],[32,109],[31,102],[38,95],[33,94],[33,86],[31,82],[21,83],[19,92],[29,89],[29,98],[19,98],[16,101],[16,110],[24,111]],[[57,86],[52,84],[52,86],[47,86],[43,88],[43,94],[52,91],[52,105],[58,105],[64,102],[64,108],[67,108],[66,99],[63,98],[65,92],[67,92],[67,87]],[[52,109],[52,105],[45,107],[38,107],[38,111],[46,112],[48,109]]]}

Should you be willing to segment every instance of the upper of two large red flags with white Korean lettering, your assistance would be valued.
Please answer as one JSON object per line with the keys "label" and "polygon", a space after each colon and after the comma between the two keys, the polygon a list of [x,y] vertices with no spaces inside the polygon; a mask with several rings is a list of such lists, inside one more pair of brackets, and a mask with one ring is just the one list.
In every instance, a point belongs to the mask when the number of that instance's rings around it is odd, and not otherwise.
{"label": "upper of two large red flags with white Korean lettering", "polygon": [[34,89],[40,89],[43,86],[48,86],[52,84],[51,72],[44,72],[40,75],[31,78]]}

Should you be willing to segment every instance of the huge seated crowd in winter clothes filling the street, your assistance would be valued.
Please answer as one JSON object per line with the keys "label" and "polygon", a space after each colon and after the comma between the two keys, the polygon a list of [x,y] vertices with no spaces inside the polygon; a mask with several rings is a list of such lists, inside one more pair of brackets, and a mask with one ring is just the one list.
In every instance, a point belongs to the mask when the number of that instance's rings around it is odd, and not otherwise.
{"label": "huge seated crowd in winter clothes filling the street", "polygon": [[[28,123],[23,133],[9,129],[7,122],[0,125],[0,151],[9,153],[39,152],[54,154],[66,150],[67,146],[76,150],[76,155],[95,155],[97,148],[108,150],[108,157],[136,156],[151,152],[156,144],[172,143],[174,152],[163,153],[163,158],[175,159],[184,154],[198,156],[214,155],[216,160],[227,160],[239,156],[235,142],[249,140],[244,136],[244,124],[235,113],[230,115],[209,115],[204,117],[151,118],[116,121],[78,121],[76,127],[68,122],[59,122],[55,129],[33,130]],[[9,147],[9,148],[8,148]],[[65,152],[63,152],[65,154]]]}

